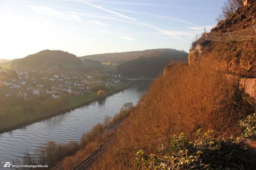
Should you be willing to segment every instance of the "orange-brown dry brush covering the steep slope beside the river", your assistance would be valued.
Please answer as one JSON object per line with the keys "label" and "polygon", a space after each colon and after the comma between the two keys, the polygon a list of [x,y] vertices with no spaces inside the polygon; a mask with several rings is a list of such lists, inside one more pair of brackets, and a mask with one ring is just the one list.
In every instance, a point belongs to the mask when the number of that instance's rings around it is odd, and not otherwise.
{"label": "orange-brown dry brush covering the steep slope beside the river", "polygon": [[135,169],[136,152],[154,153],[162,138],[185,132],[194,137],[201,128],[215,136],[238,135],[239,120],[252,109],[243,101],[238,78],[207,56],[193,66],[172,64],[142,96],[139,105],[106,145],[94,169]]}

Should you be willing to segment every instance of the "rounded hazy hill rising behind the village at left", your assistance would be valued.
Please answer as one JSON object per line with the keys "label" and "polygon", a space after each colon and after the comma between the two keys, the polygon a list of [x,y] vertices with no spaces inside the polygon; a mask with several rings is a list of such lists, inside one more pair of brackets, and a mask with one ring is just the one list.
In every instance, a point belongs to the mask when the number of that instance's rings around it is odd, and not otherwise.
{"label": "rounded hazy hill rising behind the village at left", "polygon": [[15,69],[46,69],[53,67],[54,65],[81,65],[75,55],[63,52],[44,50],[36,54],[29,55],[22,59],[15,59],[11,62],[11,68]]}

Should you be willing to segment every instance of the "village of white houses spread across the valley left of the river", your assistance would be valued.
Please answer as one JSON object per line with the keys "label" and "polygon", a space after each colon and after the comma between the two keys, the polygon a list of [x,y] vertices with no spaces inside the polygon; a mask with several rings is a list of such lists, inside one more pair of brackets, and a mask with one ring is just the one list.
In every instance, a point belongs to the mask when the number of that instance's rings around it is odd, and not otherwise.
{"label": "village of white houses spread across the valley left of the river", "polygon": [[[54,70],[54,71],[52,71]],[[47,71],[4,70],[0,77],[2,98],[27,100],[47,100],[61,98],[61,95],[82,95],[97,92],[97,87],[107,88],[121,84],[121,75],[82,74],[69,72],[62,74],[57,67]],[[53,73],[54,72],[54,73]]]}

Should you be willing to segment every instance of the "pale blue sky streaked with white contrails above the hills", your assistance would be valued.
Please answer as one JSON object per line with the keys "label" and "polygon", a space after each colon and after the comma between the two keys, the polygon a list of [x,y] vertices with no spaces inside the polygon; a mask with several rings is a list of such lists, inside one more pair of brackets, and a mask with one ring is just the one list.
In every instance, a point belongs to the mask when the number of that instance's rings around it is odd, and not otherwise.
{"label": "pale blue sky streaked with white contrails above the hills", "polygon": [[0,0],[0,58],[174,48],[216,26],[223,0]]}

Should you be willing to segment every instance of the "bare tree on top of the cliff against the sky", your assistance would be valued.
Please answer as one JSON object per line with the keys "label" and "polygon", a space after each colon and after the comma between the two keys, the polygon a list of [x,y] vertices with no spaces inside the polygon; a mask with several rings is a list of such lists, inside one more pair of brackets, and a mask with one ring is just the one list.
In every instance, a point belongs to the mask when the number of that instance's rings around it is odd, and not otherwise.
{"label": "bare tree on top of the cliff against the sky", "polygon": [[216,18],[216,21],[219,22],[228,18],[228,16],[236,12],[241,6],[243,6],[242,0],[226,0],[221,8],[221,14]]}

